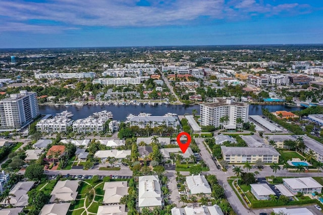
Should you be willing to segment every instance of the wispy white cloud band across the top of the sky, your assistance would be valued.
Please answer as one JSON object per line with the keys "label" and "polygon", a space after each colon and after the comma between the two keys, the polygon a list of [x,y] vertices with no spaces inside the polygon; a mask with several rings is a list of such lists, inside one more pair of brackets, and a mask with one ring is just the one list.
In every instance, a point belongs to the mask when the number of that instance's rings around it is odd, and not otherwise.
{"label": "wispy white cloud band across the top of the sky", "polygon": [[[8,25],[10,22],[25,23],[30,20],[53,21],[55,26],[105,26],[146,27],[188,25],[201,16],[216,20],[240,20],[257,14],[277,15],[294,10],[302,5],[281,4],[278,6],[256,3],[254,0],[165,0],[151,1],[149,7],[138,7],[131,0],[52,0],[47,3],[1,0],[0,16],[6,17],[3,31],[19,31]],[[303,7],[304,8],[304,7]],[[27,23],[27,24],[26,24]],[[29,24],[31,29],[47,28],[48,24]],[[68,27],[66,27],[68,29]],[[57,28],[57,27],[56,27]],[[22,28],[24,29],[26,28]],[[28,28],[27,28],[28,29]],[[26,30],[27,30],[26,29]],[[60,28],[63,29],[63,28]]]}

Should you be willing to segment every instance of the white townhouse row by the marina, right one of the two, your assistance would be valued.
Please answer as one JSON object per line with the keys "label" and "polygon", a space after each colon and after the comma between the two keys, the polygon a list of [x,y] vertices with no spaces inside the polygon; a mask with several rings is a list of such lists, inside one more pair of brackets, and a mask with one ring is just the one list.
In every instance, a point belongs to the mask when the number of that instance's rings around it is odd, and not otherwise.
{"label": "white townhouse row by the marina, right one of the two", "polygon": [[104,123],[107,120],[109,120],[108,117],[94,118],[92,116],[84,119],[78,119],[73,122],[73,131],[76,131],[78,133],[104,131]]}

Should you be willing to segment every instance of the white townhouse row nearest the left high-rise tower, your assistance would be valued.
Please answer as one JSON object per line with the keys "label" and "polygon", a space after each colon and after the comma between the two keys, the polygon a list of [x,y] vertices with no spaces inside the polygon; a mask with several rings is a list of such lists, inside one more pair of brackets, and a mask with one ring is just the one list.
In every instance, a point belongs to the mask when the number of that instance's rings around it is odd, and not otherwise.
{"label": "white townhouse row nearest the left high-rise tower", "polygon": [[67,117],[53,117],[42,119],[36,124],[37,131],[42,133],[60,133],[67,131],[67,127],[72,126],[73,120]]}

